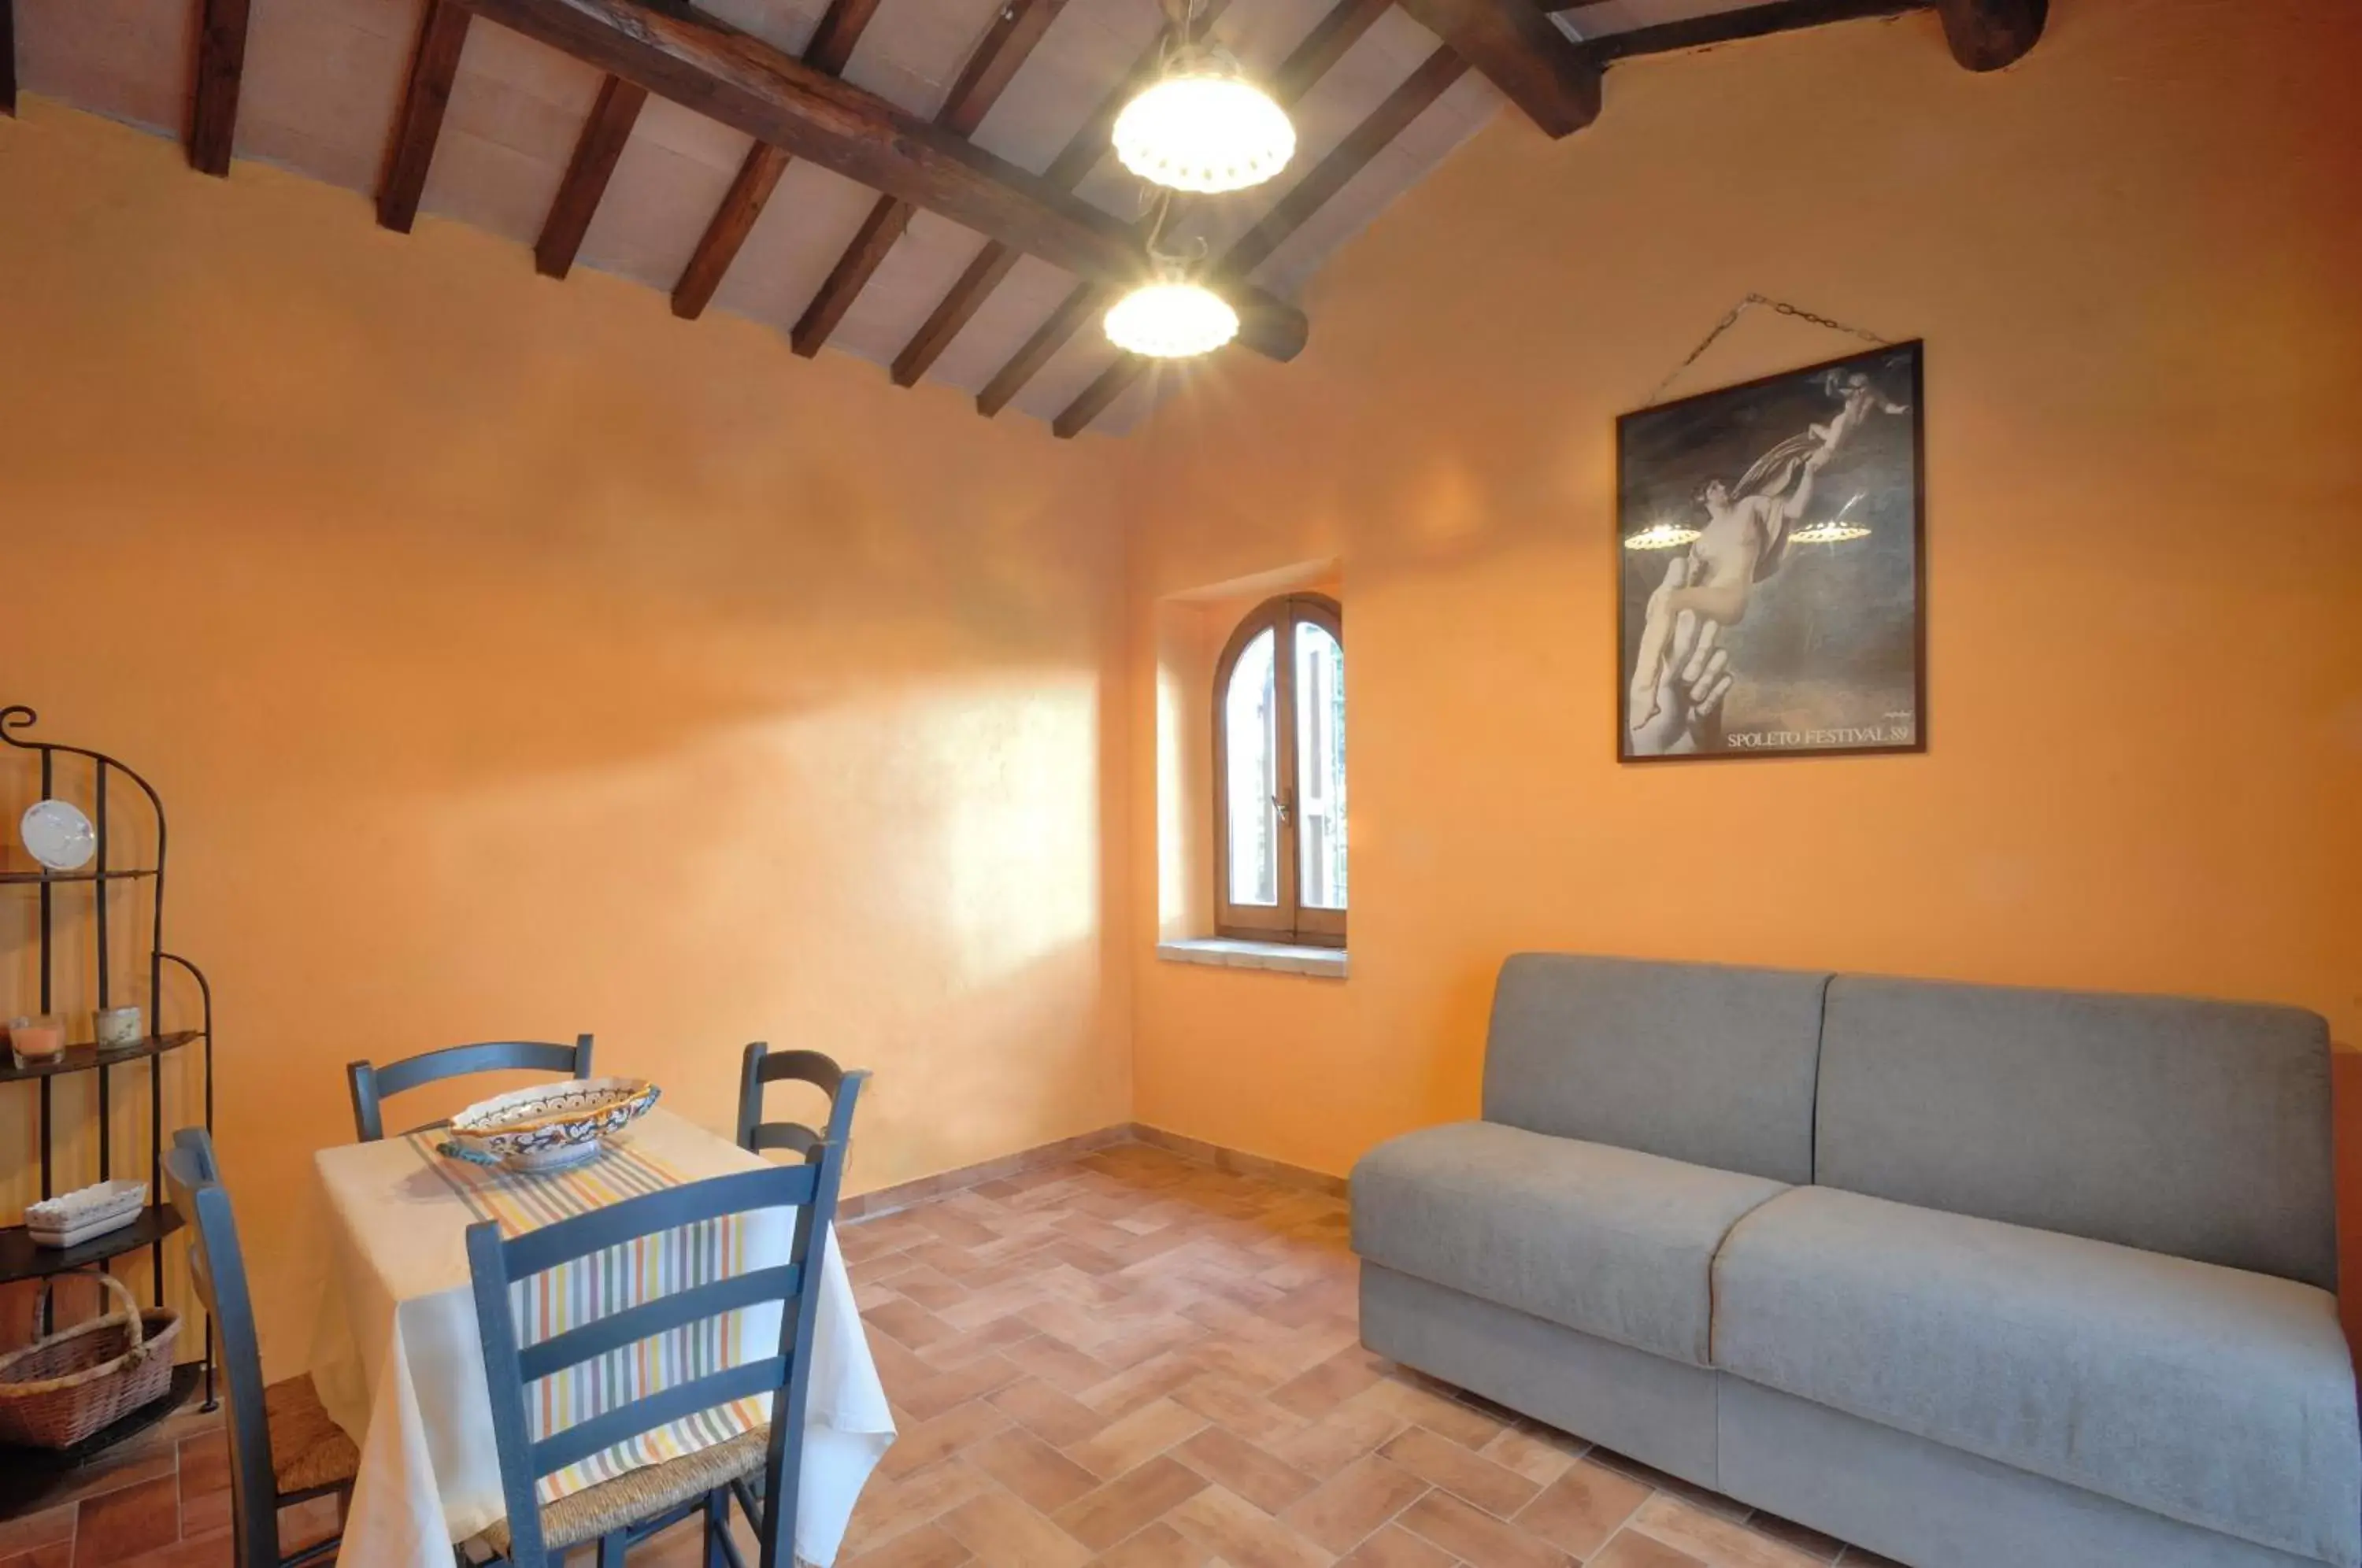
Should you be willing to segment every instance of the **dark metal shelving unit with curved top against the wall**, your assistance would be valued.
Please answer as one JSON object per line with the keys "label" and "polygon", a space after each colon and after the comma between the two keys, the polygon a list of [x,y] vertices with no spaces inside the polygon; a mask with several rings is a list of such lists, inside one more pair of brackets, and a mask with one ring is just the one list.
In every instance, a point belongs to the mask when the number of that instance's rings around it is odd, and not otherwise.
{"label": "dark metal shelving unit with curved top against the wall", "polygon": [[[59,994],[59,886],[85,886],[90,888],[90,912],[83,916],[76,912],[71,919],[87,919],[90,928],[90,992],[85,997],[71,999],[78,1015],[92,1008],[113,1006],[118,989],[118,971],[128,968],[125,956],[135,956],[137,971],[146,980],[144,1015],[149,1020],[151,1034],[132,1046],[97,1046],[76,1044],[66,1048],[66,1056],[54,1063],[31,1063],[19,1067],[7,1053],[0,1053],[0,1086],[7,1084],[31,1084],[40,1103],[40,1195],[50,1197],[57,1193],[57,1082],[68,1074],[92,1074],[97,1084],[97,1145],[99,1145],[99,1181],[113,1176],[137,1176],[137,1167],[120,1157],[113,1136],[113,1089],[116,1074],[123,1070],[137,1070],[146,1063],[146,1089],[149,1089],[149,1126],[146,1148],[139,1150],[146,1159],[149,1178],[149,1207],[139,1219],[123,1230],[111,1230],[102,1237],[83,1242],[80,1247],[66,1247],[64,1252],[52,1247],[35,1247],[26,1228],[0,1226],[0,1285],[17,1280],[40,1280],[47,1275],[68,1273],[76,1268],[104,1266],[111,1259],[146,1252],[149,1254],[149,1287],[158,1306],[163,1306],[163,1249],[165,1240],[180,1230],[180,1214],[165,1202],[163,1195],[163,1063],[168,1056],[198,1046],[203,1051],[203,1074],[205,1074],[205,1126],[213,1126],[213,987],[205,982],[203,971],[198,971],[187,959],[165,952],[163,945],[163,893],[165,893],[165,815],[163,801],[137,772],[125,767],[120,760],[104,756],[99,751],[87,751],[83,746],[66,746],[59,741],[28,739],[24,732],[38,723],[38,713],[24,706],[0,708],[0,744],[7,744],[21,753],[40,770],[40,796],[50,798],[64,784],[90,782],[90,824],[97,829],[97,855],[92,864],[80,871],[0,871],[0,897],[35,897],[35,933],[38,933],[38,994],[35,1006],[21,1006],[21,999],[9,999],[7,1008],[12,1013],[59,1013],[68,1011]],[[118,850],[118,834],[123,829],[120,812],[130,805],[132,812],[154,822],[154,864],[118,867],[111,855]],[[109,921],[111,900],[137,890],[139,883],[151,883],[151,919],[146,921],[146,942],[135,954],[116,954],[113,930]],[[21,893],[17,893],[21,888]],[[135,921],[137,923],[137,921]],[[165,1030],[165,971],[187,973],[196,985],[196,1018],[187,1020],[196,1027]],[[5,1089],[0,1089],[5,1091]],[[132,1169],[123,1169],[132,1167]],[[7,1450],[0,1448],[0,1474],[9,1474],[12,1483],[40,1485],[43,1474],[54,1474],[59,1469],[71,1469],[83,1464],[106,1448],[113,1448],[123,1438],[161,1422],[170,1415],[198,1384],[205,1386],[205,1405],[213,1405],[213,1325],[198,1322],[203,1332],[189,1339],[203,1346],[203,1360],[184,1365],[175,1372],[172,1396],[158,1400],[149,1410],[139,1410],[116,1426],[78,1443],[64,1455],[31,1452],[31,1450]],[[17,1490],[14,1485],[9,1490]]]}

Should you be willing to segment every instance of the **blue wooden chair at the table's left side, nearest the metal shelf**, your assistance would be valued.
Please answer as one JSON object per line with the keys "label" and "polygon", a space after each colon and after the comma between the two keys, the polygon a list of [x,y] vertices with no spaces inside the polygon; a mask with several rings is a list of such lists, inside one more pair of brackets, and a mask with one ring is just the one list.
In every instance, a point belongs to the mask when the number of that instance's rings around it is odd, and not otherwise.
{"label": "blue wooden chair at the table's left side, nearest the metal shelf", "polygon": [[328,1412],[309,1377],[262,1386],[255,1304],[229,1214],[213,1138],[198,1126],[172,1133],[163,1157],[165,1190],[189,1228],[189,1282],[213,1320],[222,1393],[229,1403],[229,1540],[236,1568],[300,1568],[335,1556],[340,1537],[279,1554],[279,1509],[352,1490],[361,1455]]}

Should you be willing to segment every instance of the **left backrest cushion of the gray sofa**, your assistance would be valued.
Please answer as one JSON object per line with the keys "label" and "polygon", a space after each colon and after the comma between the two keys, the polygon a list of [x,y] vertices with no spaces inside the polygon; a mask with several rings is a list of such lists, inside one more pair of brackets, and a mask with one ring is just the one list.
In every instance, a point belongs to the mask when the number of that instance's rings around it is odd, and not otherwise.
{"label": "left backrest cushion of the gray sofa", "polygon": [[1493,989],[1483,1117],[1812,1181],[1828,975],[1516,954]]}

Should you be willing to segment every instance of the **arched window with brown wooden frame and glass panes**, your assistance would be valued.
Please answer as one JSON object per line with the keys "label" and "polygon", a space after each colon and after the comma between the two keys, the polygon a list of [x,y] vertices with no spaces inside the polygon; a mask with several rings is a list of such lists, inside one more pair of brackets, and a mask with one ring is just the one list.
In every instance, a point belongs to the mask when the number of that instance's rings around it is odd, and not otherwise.
{"label": "arched window with brown wooden frame and glass panes", "polygon": [[1254,607],[1214,666],[1214,928],[1344,947],[1344,614]]}

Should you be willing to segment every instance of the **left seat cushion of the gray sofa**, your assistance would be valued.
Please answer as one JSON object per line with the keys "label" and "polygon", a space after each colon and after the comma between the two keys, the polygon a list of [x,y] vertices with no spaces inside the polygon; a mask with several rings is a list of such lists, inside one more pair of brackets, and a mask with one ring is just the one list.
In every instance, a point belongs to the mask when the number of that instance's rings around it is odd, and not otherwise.
{"label": "left seat cushion of the gray sofa", "polygon": [[1703,1367],[1715,1247],[1781,1190],[1606,1143],[1455,1122],[1379,1143],[1353,1167],[1353,1252]]}

